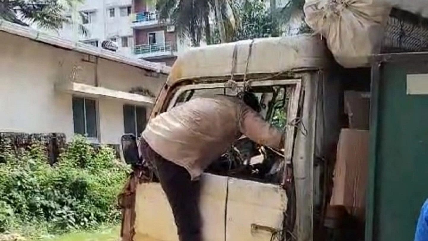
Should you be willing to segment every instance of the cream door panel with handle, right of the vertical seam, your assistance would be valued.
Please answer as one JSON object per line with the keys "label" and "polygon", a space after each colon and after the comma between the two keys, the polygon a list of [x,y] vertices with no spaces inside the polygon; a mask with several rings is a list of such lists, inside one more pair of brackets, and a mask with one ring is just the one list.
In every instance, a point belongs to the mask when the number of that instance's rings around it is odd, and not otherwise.
{"label": "cream door panel with handle, right of the vertical seam", "polygon": [[286,207],[278,185],[229,179],[226,241],[270,241],[282,230]]}

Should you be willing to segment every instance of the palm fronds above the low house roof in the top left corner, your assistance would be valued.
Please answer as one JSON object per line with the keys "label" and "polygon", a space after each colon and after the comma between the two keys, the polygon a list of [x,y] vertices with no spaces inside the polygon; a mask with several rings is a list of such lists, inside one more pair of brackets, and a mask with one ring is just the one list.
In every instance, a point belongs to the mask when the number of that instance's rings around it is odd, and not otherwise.
{"label": "palm fronds above the low house roof in the top left corner", "polygon": [[[0,19],[28,26],[36,24],[46,29],[59,29],[70,20],[65,17],[67,7],[82,0],[0,0]],[[83,31],[84,32],[84,31]]]}

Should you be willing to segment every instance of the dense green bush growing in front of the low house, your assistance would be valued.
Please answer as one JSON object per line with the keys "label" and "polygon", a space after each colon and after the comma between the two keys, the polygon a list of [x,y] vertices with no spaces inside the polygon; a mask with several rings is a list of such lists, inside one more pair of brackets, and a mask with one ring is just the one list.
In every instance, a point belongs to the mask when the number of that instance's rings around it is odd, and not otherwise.
{"label": "dense green bush growing in front of the low house", "polygon": [[53,166],[40,145],[18,157],[3,147],[0,155],[0,232],[42,225],[61,233],[119,220],[116,197],[129,168],[113,149],[95,151],[75,137]]}

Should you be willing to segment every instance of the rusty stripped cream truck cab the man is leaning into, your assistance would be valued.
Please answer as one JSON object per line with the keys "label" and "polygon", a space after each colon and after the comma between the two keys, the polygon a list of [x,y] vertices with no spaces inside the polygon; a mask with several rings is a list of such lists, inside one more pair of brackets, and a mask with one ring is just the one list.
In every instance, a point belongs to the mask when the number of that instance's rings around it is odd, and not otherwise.
{"label": "rusty stripped cream truck cab the man is leaning into", "polygon": [[[328,154],[340,130],[331,123],[338,118],[319,118],[325,111],[323,91],[331,89],[324,83],[330,62],[317,35],[193,48],[175,62],[150,118],[198,96],[251,89],[263,117],[285,132],[283,153],[241,137],[202,175],[205,241],[312,240],[314,214],[325,205],[319,181],[323,170],[315,156]],[[332,126],[335,130],[328,129]],[[123,241],[178,240],[155,179],[134,165],[119,200]]]}

